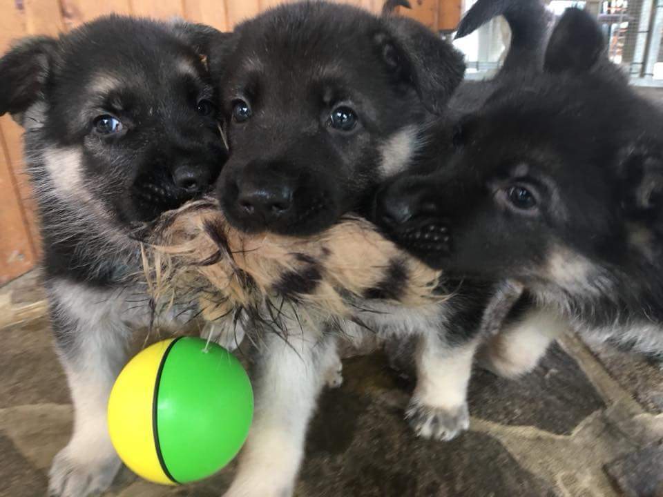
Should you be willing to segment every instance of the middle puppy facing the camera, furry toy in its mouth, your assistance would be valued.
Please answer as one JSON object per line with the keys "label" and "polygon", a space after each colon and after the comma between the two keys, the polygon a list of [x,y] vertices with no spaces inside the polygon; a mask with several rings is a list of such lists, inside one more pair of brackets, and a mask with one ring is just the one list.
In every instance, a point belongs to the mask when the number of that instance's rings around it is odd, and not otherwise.
{"label": "middle puppy facing the camera, furry toy in its mouth", "polygon": [[[243,231],[294,236],[365,212],[379,182],[417,154],[423,129],[444,112],[464,71],[459,52],[419,23],[325,2],[280,6],[241,24],[212,47],[209,62],[232,151],[218,180],[224,211]],[[310,263],[306,274],[282,282],[284,295],[315,288],[319,272]],[[389,274],[367,296],[397,292],[403,265]],[[446,324],[462,317],[439,306],[375,304],[361,325],[343,326],[287,312],[279,313],[289,321],[281,336],[261,337],[256,417],[228,497],[291,495],[325,371],[338,362],[336,333],[327,331],[424,336],[425,380],[413,406],[427,415],[417,426],[437,438],[466,426],[464,397],[459,402],[455,389],[446,396],[453,366],[439,353]]]}

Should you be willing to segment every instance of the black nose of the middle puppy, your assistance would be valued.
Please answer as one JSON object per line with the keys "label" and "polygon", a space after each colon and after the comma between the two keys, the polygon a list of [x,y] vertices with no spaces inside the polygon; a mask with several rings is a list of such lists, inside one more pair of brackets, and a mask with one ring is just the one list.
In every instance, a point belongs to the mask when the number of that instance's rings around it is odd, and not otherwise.
{"label": "black nose of the middle puppy", "polygon": [[285,215],[292,206],[293,188],[287,182],[260,184],[244,181],[238,184],[240,212],[249,216],[260,216],[271,220]]}

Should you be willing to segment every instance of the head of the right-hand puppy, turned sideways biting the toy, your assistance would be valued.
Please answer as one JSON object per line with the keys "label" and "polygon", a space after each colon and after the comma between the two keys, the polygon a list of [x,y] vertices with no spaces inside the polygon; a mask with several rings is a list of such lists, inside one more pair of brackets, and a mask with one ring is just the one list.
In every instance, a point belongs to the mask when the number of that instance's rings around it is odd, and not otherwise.
{"label": "head of the right-hand puppy, turned sideways biting the toy", "polygon": [[506,81],[457,126],[450,162],[386,186],[376,217],[452,273],[584,284],[595,262],[623,264],[631,222],[655,209],[660,146],[633,140],[661,122],[608,64],[594,21],[568,10],[544,74]]}

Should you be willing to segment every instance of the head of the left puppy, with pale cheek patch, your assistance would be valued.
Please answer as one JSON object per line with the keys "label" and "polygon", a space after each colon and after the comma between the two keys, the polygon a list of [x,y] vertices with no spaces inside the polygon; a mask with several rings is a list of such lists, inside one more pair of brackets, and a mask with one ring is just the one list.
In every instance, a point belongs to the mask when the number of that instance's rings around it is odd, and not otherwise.
{"label": "head of the left puppy, with pale cheek patch", "polygon": [[42,189],[100,205],[120,225],[203,193],[226,155],[201,58],[215,35],[113,16],[10,50],[0,59],[0,115],[25,126]]}

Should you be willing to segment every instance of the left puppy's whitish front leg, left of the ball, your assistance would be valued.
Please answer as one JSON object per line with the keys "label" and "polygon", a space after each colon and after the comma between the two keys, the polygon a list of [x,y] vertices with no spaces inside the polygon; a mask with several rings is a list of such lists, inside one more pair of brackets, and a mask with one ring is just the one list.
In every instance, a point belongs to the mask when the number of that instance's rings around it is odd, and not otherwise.
{"label": "left puppy's whitish front leg, left of the ball", "polygon": [[[51,292],[52,326],[74,405],[73,434],[52,462],[49,495],[86,497],[113,482],[121,463],[106,427],[113,382],[126,362],[128,330],[94,291],[74,284]],[[115,318],[115,319],[114,319]]]}

